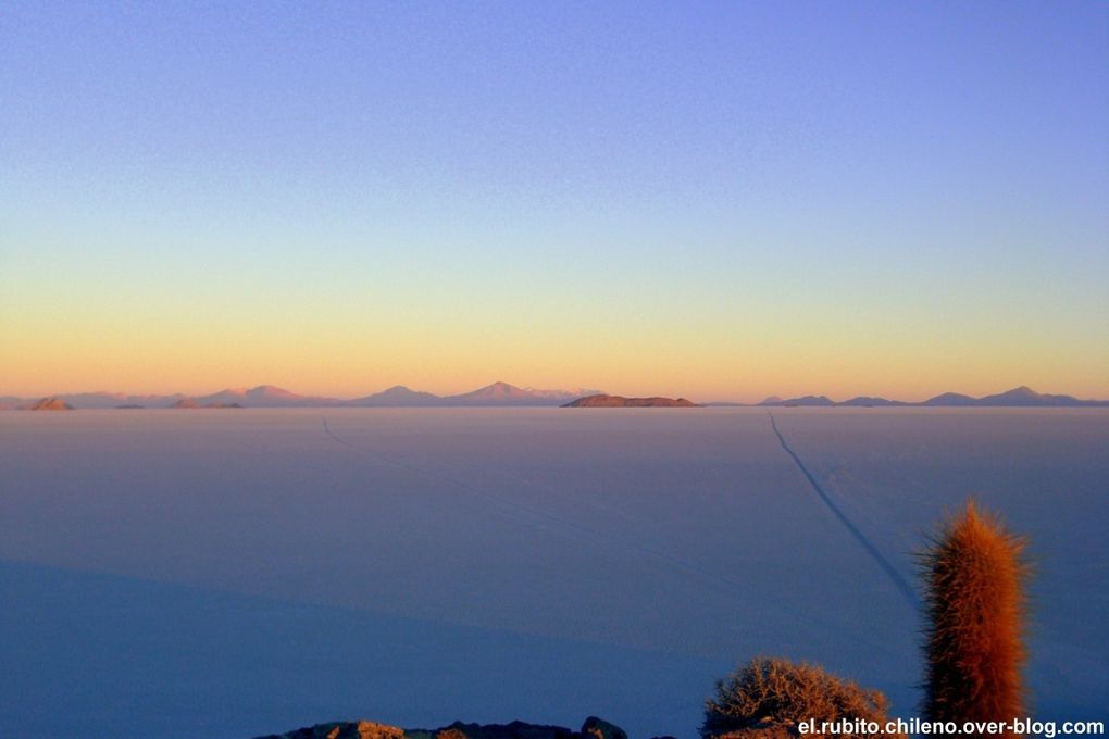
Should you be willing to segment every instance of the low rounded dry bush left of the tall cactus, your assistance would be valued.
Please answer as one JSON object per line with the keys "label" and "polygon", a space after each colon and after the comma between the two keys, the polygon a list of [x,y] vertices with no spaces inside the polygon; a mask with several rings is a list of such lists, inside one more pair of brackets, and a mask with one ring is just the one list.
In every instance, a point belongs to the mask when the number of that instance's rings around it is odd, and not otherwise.
{"label": "low rounded dry bush left of the tall cactus", "polygon": [[881,726],[887,720],[887,707],[881,691],[861,688],[815,665],[757,658],[716,682],[716,695],[704,705],[701,736],[796,736],[796,725],[810,719],[815,719],[817,729],[821,721],[840,719]]}

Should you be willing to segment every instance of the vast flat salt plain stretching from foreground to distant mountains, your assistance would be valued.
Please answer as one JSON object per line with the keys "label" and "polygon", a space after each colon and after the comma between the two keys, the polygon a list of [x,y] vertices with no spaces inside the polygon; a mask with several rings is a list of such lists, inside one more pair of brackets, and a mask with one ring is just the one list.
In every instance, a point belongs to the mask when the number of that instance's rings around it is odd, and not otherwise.
{"label": "vast flat salt plain stretching from foreground to distant mountains", "polygon": [[1109,411],[774,418],[855,532],[763,409],[0,413],[0,735],[597,714],[692,737],[756,655],[908,716],[897,579],[967,494],[1030,537],[1037,714],[1103,718]]}

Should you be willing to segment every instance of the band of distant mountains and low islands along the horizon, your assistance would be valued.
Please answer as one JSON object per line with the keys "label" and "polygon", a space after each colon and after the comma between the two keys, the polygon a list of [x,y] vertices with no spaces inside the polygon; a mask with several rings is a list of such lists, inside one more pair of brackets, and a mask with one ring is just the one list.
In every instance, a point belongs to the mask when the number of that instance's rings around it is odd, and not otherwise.
{"label": "band of distant mountains and low islands along the horizon", "polygon": [[75,409],[220,409],[220,408],[1109,408],[1109,400],[1080,400],[1072,396],[1039,393],[1027,387],[1014,388],[981,398],[945,392],[920,402],[858,396],[835,401],[827,396],[802,396],[782,399],[771,397],[757,403],[694,403],[684,398],[625,398],[599,390],[536,390],[518,388],[507,382],[494,382],[457,396],[436,396],[395,386],[370,396],[343,400],[318,396],[299,396],[271,384],[256,388],[233,388],[208,396],[126,394],[121,392],[81,392],[18,398],[0,396],[0,410],[75,410]]}

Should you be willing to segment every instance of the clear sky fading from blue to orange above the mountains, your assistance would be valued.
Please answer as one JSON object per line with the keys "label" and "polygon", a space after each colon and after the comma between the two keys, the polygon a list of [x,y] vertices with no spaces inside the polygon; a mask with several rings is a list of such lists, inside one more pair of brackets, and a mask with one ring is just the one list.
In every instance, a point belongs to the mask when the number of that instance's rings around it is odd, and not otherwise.
{"label": "clear sky fading from blue to orange above the mountains", "polygon": [[1109,3],[0,3],[0,394],[1109,398]]}

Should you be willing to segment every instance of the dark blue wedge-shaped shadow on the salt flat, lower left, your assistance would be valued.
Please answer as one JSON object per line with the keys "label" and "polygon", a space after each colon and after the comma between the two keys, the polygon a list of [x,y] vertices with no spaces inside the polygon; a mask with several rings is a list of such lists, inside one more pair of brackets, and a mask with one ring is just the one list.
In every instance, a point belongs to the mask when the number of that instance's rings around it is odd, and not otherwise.
{"label": "dark blue wedge-shaped shadow on the salt flat, lower left", "polygon": [[[0,735],[246,738],[516,718],[692,737],[732,665],[0,562]],[[18,712],[14,709],[18,707]]]}

